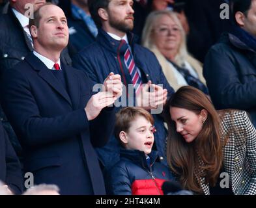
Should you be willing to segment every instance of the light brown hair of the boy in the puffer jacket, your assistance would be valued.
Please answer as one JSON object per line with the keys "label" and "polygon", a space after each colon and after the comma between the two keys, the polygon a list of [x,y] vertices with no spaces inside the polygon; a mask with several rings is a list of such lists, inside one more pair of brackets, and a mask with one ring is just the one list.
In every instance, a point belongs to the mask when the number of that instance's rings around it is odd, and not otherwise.
{"label": "light brown hair of the boy in the puffer jacket", "polygon": [[154,125],[154,118],[147,110],[141,107],[124,107],[116,114],[115,120],[115,137],[119,139],[121,131],[127,132],[131,127],[131,123],[137,118],[143,116],[152,125]]}

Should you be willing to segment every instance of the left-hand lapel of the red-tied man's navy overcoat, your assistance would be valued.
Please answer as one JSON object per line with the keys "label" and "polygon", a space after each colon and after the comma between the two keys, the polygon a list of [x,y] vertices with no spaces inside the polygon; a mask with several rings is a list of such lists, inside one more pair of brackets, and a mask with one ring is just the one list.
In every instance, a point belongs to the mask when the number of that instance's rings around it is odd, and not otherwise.
{"label": "left-hand lapel of the red-tied man's navy overcoat", "polygon": [[33,53],[30,53],[25,60],[31,65],[33,70],[38,71],[38,75],[44,79],[54,90],[56,90],[72,107],[72,103],[68,96],[68,93],[64,89],[61,82],[50,72],[44,63],[38,59]]}

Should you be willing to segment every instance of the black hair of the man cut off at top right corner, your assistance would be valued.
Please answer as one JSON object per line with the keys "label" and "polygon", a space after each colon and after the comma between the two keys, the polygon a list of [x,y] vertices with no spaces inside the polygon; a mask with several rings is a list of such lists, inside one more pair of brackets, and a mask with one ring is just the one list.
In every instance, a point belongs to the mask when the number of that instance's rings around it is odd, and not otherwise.
{"label": "black hair of the man cut off at top right corner", "polygon": [[248,15],[248,11],[251,8],[251,2],[252,0],[231,0],[230,8],[234,23],[236,23],[236,12],[242,12],[245,16]]}

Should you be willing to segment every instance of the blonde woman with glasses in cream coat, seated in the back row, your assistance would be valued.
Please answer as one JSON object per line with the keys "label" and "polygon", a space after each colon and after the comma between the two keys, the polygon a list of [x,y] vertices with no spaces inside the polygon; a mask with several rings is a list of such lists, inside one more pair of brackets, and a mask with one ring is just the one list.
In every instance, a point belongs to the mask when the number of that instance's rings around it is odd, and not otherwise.
{"label": "blonde woman with glasses in cream coat, seated in the back row", "polygon": [[152,12],[145,23],[142,42],[156,55],[167,81],[175,90],[192,85],[208,93],[202,65],[188,54],[186,34],[175,12]]}

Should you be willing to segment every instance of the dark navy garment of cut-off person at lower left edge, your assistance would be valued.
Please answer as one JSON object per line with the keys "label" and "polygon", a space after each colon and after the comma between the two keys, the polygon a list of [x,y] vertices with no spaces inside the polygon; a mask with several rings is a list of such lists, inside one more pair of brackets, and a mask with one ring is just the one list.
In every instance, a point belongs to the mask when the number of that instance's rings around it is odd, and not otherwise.
{"label": "dark navy garment of cut-off person at lower left edge", "polygon": [[12,148],[8,135],[0,122],[0,181],[6,183],[14,194],[21,194],[23,178],[20,161]]}

